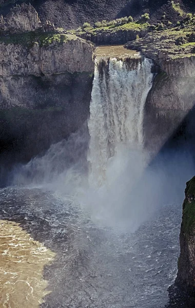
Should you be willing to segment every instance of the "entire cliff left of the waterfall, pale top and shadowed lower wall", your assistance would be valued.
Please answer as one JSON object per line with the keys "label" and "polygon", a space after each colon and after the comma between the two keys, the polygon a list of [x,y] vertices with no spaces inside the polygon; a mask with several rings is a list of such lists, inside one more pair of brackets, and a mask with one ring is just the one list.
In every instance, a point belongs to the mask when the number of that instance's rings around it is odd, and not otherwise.
{"label": "entire cliff left of the waterfall, pale top and shadowed lower wall", "polygon": [[29,161],[86,121],[95,49],[75,35],[46,33],[31,6],[17,7],[3,22],[0,185],[12,164]]}

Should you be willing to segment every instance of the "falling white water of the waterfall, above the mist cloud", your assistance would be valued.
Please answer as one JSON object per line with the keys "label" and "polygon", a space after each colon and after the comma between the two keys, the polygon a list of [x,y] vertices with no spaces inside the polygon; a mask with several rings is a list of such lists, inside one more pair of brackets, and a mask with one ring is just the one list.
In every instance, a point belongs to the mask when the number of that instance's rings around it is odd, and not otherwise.
{"label": "falling white water of the waterfall, above the mist cloud", "polygon": [[122,148],[142,149],[143,117],[152,86],[148,59],[96,59],[88,128],[89,182],[101,186],[109,160]]}

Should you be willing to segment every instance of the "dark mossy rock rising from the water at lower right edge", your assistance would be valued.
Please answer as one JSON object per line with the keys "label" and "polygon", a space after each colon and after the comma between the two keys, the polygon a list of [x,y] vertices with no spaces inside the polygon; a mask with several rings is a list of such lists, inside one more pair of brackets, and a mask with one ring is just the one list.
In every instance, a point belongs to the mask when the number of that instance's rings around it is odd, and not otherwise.
{"label": "dark mossy rock rising from the water at lower right edge", "polygon": [[186,183],[180,231],[180,257],[175,283],[169,287],[166,308],[195,306],[195,177]]}

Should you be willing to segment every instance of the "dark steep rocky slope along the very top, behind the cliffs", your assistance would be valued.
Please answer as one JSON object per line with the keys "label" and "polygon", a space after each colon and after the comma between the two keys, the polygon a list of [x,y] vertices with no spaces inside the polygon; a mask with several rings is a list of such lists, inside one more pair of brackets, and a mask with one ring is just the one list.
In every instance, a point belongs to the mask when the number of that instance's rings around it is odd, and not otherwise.
{"label": "dark steep rocky slope along the very top, behind the cliffs", "polygon": [[[0,13],[7,14],[15,4],[31,3],[41,20],[50,20],[55,26],[67,29],[77,28],[84,22],[94,23],[101,20],[113,20],[132,15],[150,13],[152,22],[159,21],[164,12],[167,18],[178,18],[178,12],[172,10],[170,0],[0,0]],[[178,0],[186,11],[194,11],[193,0]]]}

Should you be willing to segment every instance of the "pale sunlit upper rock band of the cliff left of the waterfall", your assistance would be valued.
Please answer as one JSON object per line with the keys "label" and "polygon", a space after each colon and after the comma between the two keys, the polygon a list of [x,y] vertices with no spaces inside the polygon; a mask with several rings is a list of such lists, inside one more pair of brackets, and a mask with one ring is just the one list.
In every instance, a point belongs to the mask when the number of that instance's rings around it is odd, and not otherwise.
{"label": "pale sunlit upper rock band of the cliff left of the waterfall", "polygon": [[19,40],[0,43],[0,76],[93,72],[94,47],[81,38],[42,34],[32,40],[32,46]]}

